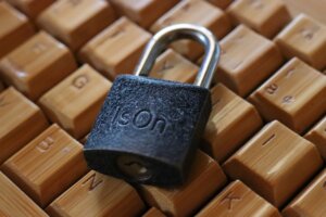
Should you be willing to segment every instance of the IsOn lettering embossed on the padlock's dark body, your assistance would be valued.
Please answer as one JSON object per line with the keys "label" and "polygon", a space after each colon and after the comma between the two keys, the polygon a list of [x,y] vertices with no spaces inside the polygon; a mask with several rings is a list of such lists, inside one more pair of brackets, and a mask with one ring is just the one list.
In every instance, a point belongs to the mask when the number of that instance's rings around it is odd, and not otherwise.
{"label": "IsOn lettering embossed on the padlock's dark body", "polygon": [[138,129],[148,129],[159,133],[164,133],[168,126],[166,117],[148,108],[129,112],[124,111],[122,107],[116,107],[114,111],[112,124],[118,126],[131,125]]}

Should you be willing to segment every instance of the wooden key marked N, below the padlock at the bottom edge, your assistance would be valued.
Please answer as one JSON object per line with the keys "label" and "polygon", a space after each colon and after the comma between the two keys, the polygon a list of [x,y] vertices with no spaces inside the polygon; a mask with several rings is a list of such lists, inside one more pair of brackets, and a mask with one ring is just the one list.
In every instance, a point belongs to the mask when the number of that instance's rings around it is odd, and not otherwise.
{"label": "wooden key marked N, below the padlock at the bottom edge", "polygon": [[121,179],[89,171],[47,208],[50,216],[139,216],[145,209],[137,191]]}

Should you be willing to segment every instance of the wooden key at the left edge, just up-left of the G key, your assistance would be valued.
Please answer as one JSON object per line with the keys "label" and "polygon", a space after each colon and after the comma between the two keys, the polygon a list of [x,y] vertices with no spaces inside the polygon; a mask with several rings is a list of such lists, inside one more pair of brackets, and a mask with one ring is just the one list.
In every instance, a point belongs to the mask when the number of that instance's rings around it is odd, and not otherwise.
{"label": "wooden key at the left edge, just up-left of the G key", "polygon": [[0,75],[32,100],[76,69],[73,54],[40,31],[0,61]]}

